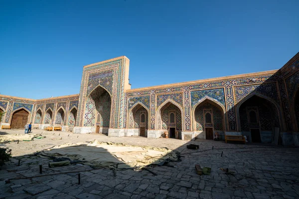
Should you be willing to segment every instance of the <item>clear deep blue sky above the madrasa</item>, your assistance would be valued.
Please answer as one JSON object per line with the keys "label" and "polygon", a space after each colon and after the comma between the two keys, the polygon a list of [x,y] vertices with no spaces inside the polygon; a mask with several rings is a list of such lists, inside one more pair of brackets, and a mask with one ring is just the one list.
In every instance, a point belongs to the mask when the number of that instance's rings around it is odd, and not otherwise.
{"label": "clear deep blue sky above the madrasa", "polygon": [[0,93],[78,94],[84,65],[125,55],[132,88],[281,68],[298,0],[0,0]]}

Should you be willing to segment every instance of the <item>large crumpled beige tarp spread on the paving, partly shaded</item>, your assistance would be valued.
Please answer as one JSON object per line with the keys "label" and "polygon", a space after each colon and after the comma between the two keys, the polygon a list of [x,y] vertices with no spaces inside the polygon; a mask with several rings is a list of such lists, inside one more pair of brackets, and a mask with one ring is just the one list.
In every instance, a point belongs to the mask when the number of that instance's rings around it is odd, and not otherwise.
{"label": "large crumpled beige tarp spread on the paving, partly shaded", "polygon": [[177,161],[177,154],[166,148],[131,146],[125,144],[115,144],[111,142],[63,144],[43,150],[40,157],[67,157],[71,160],[81,160],[85,165],[96,168],[118,165],[118,168],[132,168],[135,166],[146,166],[159,164],[163,161]]}

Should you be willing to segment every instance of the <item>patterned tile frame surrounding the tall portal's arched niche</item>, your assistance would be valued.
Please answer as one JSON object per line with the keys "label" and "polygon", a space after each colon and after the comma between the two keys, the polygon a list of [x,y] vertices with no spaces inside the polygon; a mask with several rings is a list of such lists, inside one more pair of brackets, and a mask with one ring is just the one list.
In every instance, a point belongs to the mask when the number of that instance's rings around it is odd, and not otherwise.
{"label": "patterned tile frame surrounding the tall portal's arched niche", "polygon": [[[88,93],[90,93],[93,88],[96,88],[98,86],[106,88],[108,93],[111,92],[112,104],[110,128],[121,128],[123,126],[124,107],[126,106],[124,104],[125,85],[129,85],[129,76],[126,77],[125,72],[128,69],[129,59],[125,56],[84,67],[76,126],[84,126],[84,111],[86,102],[88,100]],[[103,74],[105,74],[106,71],[113,71],[113,73],[107,72],[107,76],[105,76]],[[102,73],[103,76],[99,73]],[[93,76],[93,74],[99,75]],[[89,79],[89,77],[93,78]]]}

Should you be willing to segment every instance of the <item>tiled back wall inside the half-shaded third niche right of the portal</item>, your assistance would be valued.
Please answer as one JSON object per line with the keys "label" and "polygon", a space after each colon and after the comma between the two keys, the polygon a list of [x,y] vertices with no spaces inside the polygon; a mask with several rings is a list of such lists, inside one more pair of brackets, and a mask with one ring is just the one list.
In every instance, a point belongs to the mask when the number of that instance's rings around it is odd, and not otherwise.
{"label": "tiled back wall inside the half-shaded third niche right of the portal", "polygon": [[[211,109],[212,111],[205,111],[204,109]],[[209,126],[208,124],[204,124],[204,115],[207,116],[207,113],[213,115],[213,123]],[[197,105],[195,108],[194,116],[196,123],[196,130],[203,131],[204,127],[214,127],[214,130],[223,130],[223,116],[222,110],[215,105],[209,102],[203,102]],[[211,119],[210,119],[211,120]],[[208,122],[209,123],[209,122]]]}

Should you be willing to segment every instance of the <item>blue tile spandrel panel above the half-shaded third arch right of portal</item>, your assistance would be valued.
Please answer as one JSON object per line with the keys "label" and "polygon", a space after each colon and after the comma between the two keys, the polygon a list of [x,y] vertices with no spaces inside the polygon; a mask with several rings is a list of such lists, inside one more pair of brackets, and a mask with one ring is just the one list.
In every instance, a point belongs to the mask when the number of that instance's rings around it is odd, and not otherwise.
{"label": "blue tile spandrel panel above the half-shaded third arch right of portal", "polygon": [[190,93],[191,93],[191,107],[193,107],[199,100],[203,99],[205,96],[217,100],[223,105],[225,105],[223,89],[192,91]]}

